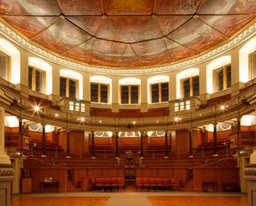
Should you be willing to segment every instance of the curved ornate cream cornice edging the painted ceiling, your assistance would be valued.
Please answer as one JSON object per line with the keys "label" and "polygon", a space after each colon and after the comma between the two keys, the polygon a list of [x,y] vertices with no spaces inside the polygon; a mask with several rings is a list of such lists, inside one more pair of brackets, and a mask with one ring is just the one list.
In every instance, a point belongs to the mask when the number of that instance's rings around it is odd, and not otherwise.
{"label": "curved ornate cream cornice edging the painted ceiling", "polygon": [[59,56],[48,50],[44,50],[41,47],[33,44],[28,39],[23,38],[22,35],[16,33],[14,30],[9,28],[3,22],[0,22],[0,33],[3,34],[9,40],[15,42],[21,47],[25,48],[29,52],[32,52],[35,55],[48,59],[50,62],[55,62],[61,64],[65,67],[71,67],[73,69],[78,69],[82,71],[97,73],[97,74],[112,74],[112,75],[141,75],[141,74],[157,74],[167,71],[175,71],[178,69],[183,69],[185,67],[192,67],[195,64],[200,64],[205,62],[217,55],[221,55],[228,50],[232,50],[234,47],[240,45],[242,42],[245,42],[247,39],[251,38],[252,35],[256,34],[256,22],[252,23],[248,28],[243,30],[240,34],[236,35],[234,38],[226,42],[224,45],[215,47],[215,49],[210,50],[209,52],[204,53],[198,57],[193,57],[191,59],[184,60],[182,62],[174,63],[168,66],[161,67],[149,67],[149,68],[140,68],[140,69],[112,69],[112,68],[103,68],[103,67],[93,67],[86,64],[78,63],[72,61],[66,57]]}

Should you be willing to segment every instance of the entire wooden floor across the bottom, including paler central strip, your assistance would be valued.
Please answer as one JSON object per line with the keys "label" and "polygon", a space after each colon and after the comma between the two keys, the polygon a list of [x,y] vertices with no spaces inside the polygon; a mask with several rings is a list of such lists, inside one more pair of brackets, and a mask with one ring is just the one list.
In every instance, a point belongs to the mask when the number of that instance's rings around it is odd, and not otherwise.
{"label": "entire wooden floor across the bottom, including paler central strip", "polygon": [[[58,193],[60,194],[60,193]],[[11,197],[11,206],[247,206],[246,195],[184,195],[181,193],[91,193],[65,196],[18,195]],[[81,196],[78,196],[81,195]],[[143,201],[142,201],[143,200]],[[120,204],[120,202],[122,202]]]}

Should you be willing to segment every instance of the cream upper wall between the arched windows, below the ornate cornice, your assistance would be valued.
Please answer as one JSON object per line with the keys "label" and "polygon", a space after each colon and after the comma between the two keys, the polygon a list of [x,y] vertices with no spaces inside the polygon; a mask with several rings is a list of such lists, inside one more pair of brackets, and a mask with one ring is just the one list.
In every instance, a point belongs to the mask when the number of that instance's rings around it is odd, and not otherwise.
{"label": "cream upper wall between the arched windows, below the ornate cornice", "polygon": [[[1,35],[0,35],[1,36]],[[2,37],[3,39],[5,39],[4,37]],[[255,37],[256,38],[256,37]],[[253,40],[255,40],[255,38],[251,38],[251,41],[253,42]],[[241,52],[245,53],[245,47],[248,47],[247,45],[252,44],[252,42],[247,41],[242,43],[241,45],[239,45],[238,47],[235,47],[233,50],[230,50],[228,52],[223,53],[222,55],[216,56],[215,58],[208,60],[206,62],[203,62],[201,64],[195,64],[193,65],[194,68],[199,68],[199,76],[200,76],[200,94],[201,96],[206,96],[206,93],[210,93],[210,91],[208,91],[206,88],[208,88],[207,83],[208,81],[211,81],[210,79],[212,79],[212,76],[210,76],[207,72],[207,65],[214,61],[215,59],[218,59],[218,57],[223,57],[223,56],[227,56],[230,55],[231,57],[231,64],[232,64],[232,85],[237,85],[238,88],[240,87],[240,84],[238,85],[238,83],[240,83],[241,81],[243,81],[242,79],[245,76],[245,74],[242,73],[241,71],[241,65],[242,62],[244,61],[241,59]],[[14,44],[15,45],[15,44]],[[21,51],[21,78],[20,78],[20,83],[27,86],[28,85],[28,57],[36,57],[36,55],[31,54],[31,52],[27,52],[26,50],[23,50],[22,47],[15,45],[15,47],[17,47],[17,49],[19,51]],[[249,49],[247,49],[247,53],[248,51],[251,52],[253,49],[251,48],[253,46],[250,46],[250,51]],[[242,49],[241,49],[242,48]],[[38,57],[38,59],[41,59],[41,57]],[[51,75],[51,87],[52,87],[52,91],[50,92],[48,90],[47,94],[53,94],[58,96],[59,95],[59,71],[60,69],[72,69],[67,68],[67,67],[63,67],[60,64],[54,63],[54,62],[49,62],[46,59],[43,59],[43,61],[47,62],[48,64],[50,64],[53,68],[52,68],[52,72],[53,74]],[[245,63],[246,64],[246,63]],[[149,107],[149,86],[147,83],[147,79],[151,78],[152,76],[158,76],[158,75],[166,75],[169,76],[169,100],[175,100],[176,98],[178,98],[177,95],[177,91],[180,91],[180,89],[178,89],[177,87],[179,87],[177,85],[177,80],[176,80],[176,74],[178,74],[181,71],[184,71],[186,69],[189,69],[189,67],[186,68],[182,68],[182,69],[174,69],[174,71],[169,71],[169,72],[164,72],[164,73],[160,73],[160,74],[144,74],[144,75],[127,75],[125,77],[134,77],[134,78],[138,78],[141,80],[141,86],[140,86],[140,98],[141,98],[141,105],[143,105],[143,107],[148,108]],[[76,70],[78,71],[78,70]],[[82,99],[85,101],[90,101],[90,76],[105,76],[107,78],[110,78],[112,81],[112,84],[110,86],[110,93],[112,93],[112,95],[110,96],[110,101],[114,104],[119,104],[119,84],[118,81],[119,79],[123,79],[124,76],[123,75],[105,75],[105,74],[93,74],[93,73],[89,73],[86,71],[78,71],[80,74],[82,74],[82,88],[83,88],[83,92],[82,92]],[[238,88],[235,88],[236,90]],[[178,89],[178,90],[177,90]],[[218,95],[217,95],[218,96]],[[132,105],[131,105],[132,108]]]}

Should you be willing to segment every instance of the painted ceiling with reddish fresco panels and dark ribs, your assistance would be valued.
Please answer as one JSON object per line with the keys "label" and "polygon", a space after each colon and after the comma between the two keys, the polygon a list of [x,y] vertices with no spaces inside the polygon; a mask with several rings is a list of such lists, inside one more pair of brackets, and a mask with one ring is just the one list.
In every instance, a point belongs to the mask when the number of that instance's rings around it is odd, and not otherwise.
{"label": "painted ceiling with reddish fresco panels and dark ribs", "polygon": [[1,18],[58,55],[114,68],[170,64],[232,38],[256,0],[0,0]]}

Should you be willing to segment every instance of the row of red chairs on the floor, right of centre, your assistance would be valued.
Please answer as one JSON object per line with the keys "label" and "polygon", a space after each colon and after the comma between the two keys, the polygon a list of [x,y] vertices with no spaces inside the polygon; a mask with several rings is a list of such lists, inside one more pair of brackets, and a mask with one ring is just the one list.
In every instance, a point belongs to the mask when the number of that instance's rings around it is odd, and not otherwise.
{"label": "row of red chairs on the floor, right of centre", "polygon": [[149,191],[153,188],[155,191],[158,189],[179,190],[179,178],[178,177],[137,177],[136,178],[136,190],[141,188],[147,188]]}

